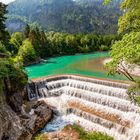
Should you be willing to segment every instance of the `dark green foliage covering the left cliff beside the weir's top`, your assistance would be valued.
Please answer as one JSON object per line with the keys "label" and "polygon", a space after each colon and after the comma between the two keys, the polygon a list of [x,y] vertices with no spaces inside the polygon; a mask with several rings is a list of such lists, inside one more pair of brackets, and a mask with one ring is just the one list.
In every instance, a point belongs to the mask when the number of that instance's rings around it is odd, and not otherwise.
{"label": "dark green foliage covering the left cliff beside the weir's top", "polygon": [[[5,85],[3,81],[7,81],[9,93],[14,93],[20,89],[23,89],[27,84],[27,75],[23,71],[23,68],[15,64],[10,58],[0,58],[0,89],[2,90]],[[1,92],[1,91],[0,91]]]}

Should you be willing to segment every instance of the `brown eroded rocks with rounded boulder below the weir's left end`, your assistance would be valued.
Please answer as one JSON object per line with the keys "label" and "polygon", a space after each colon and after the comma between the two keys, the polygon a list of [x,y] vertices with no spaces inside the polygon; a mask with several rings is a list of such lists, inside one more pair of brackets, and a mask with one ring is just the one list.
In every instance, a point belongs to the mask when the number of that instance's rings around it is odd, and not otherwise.
{"label": "brown eroded rocks with rounded boulder below the weir's left end", "polygon": [[0,104],[0,140],[31,140],[51,118],[52,110],[43,102],[37,102],[30,113],[16,114],[9,105]]}

